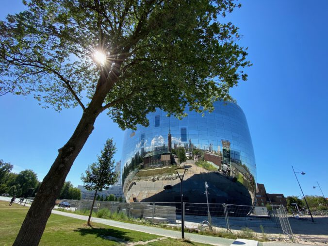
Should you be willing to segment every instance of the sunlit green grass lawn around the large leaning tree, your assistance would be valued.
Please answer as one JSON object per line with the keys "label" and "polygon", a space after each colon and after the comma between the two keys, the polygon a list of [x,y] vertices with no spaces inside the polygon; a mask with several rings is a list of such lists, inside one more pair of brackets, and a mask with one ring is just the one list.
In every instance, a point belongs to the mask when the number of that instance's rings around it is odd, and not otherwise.
{"label": "sunlit green grass lawn around the large leaning tree", "polygon": [[[28,207],[13,204],[8,206],[9,202],[0,201],[0,246],[12,245],[18,230],[24,220]],[[51,214],[46,230],[41,238],[40,245],[46,246],[116,246],[122,242],[114,239],[105,239],[106,236],[115,237],[127,242],[148,241],[161,236],[152,235],[144,232],[125,230],[110,227],[98,223],[93,223],[93,228],[86,225],[86,221],[74,219],[62,215]],[[137,245],[137,244],[136,244]],[[181,242],[175,239],[164,239],[155,242],[149,242],[151,246],[201,246],[202,244]]]}

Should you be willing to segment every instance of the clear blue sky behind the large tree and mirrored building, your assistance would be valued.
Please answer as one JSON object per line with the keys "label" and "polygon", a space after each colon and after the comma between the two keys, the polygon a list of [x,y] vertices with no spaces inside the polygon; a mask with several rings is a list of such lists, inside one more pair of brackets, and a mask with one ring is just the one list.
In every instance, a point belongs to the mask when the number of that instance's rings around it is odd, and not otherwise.
{"label": "clear blue sky behind the large tree and mirrored building", "polygon": [[[299,181],[306,195],[328,194],[328,1],[241,1],[228,19],[240,28],[248,47],[248,81],[231,90],[246,114],[259,183],[268,193],[300,196],[291,165],[306,175]],[[0,19],[24,6],[1,2]],[[80,108],[57,113],[42,109],[32,97],[0,97],[0,159],[14,171],[33,169],[40,180],[74,131]],[[66,180],[80,177],[96,161],[103,143],[113,137],[121,159],[123,131],[106,114],[73,164]]]}

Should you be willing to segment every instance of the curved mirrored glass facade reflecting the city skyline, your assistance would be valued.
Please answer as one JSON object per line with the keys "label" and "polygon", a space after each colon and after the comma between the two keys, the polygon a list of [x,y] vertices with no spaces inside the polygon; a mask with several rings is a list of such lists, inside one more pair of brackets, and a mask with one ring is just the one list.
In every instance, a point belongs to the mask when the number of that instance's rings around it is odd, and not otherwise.
{"label": "curved mirrored glass facade reflecting the city skyline", "polygon": [[[252,205],[256,164],[242,109],[217,101],[212,113],[187,111],[179,120],[162,110],[147,115],[149,126],[124,132],[122,184],[127,201],[180,202],[175,169],[187,168],[185,202]],[[180,164],[179,153],[186,161]],[[182,159],[182,158],[181,158]]]}

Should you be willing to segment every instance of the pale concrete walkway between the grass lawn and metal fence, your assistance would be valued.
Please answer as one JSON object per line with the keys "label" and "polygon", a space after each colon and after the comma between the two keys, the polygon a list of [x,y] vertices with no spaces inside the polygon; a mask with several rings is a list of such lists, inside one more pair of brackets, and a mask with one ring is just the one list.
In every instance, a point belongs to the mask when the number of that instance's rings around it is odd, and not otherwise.
{"label": "pale concrete walkway between the grass lawn and metal fence", "polygon": [[[0,197],[0,200],[8,201],[8,197]],[[80,215],[80,214],[76,214],[76,213],[66,213],[66,212],[61,212],[61,211],[57,211],[57,210],[52,210],[52,213],[63,215],[66,217],[75,218],[75,219],[81,219],[84,221],[88,220],[88,216]],[[109,219],[96,218],[96,217],[92,217],[91,221],[95,222],[95,223],[112,226],[112,227],[141,231],[141,232],[146,232],[146,233],[155,234],[155,235],[164,236],[164,237],[177,238],[177,239],[181,238],[181,232],[175,231],[175,230],[165,230],[162,228],[148,227],[148,226],[143,226],[143,225],[130,224],[130,223],[109,220]],[[215,245],[215,246],[230,246],[235,241],[233,239],[204,236],[204,235],[198,235],[195,233],[184,233],[184,237],[193,242]],[[259,246],[309,246],[309,245],[280,243],[280,242],[263,242],[263,243],[259,242]]]}

